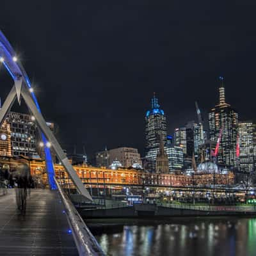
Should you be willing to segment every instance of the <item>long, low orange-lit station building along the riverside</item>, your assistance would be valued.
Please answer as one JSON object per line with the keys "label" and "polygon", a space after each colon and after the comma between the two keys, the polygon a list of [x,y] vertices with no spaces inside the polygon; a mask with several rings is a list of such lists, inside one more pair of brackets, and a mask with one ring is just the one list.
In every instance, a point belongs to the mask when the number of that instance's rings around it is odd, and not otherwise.
{"label": "long, low orange-lit station building along the riverside", "polygon": [[[0,158],[0,163],[8,168],[11,164],[11,170],[19,164],[13,159]],[[47,173],[45,170],[45,162],[42,160],[30,161],[31,175],[36,180],[41,181],[42,184],[47,185]],[[111,170],[107,168],[97,168],[93,166],[73,166],[77,175],[81,178],[86,188],[96,188],[97,186],[106,186],[106,188],[120,188],[120,186],[152,186],[152,187],[184,187],[192,186],[193,182],[196,185],[209,185],[209,184],[234,184],[234,174],[227,172],[225,174],[217,172],[198,172],[194,177],[185,174],[174,173],[147,173],[141,170],[118,168]],[[61,164],[54,164],[56,178],[62,185],[71,184],[71,180],[65,172]]]}

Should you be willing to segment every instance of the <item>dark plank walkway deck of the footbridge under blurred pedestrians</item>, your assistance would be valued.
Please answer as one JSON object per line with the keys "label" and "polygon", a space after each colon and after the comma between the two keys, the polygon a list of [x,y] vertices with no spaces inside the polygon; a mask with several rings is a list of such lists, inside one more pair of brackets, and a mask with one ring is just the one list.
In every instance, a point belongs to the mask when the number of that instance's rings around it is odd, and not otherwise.
{"label": "dark plank walkway deck of the footbridge under blurred pedestrians", "polygon": [[57,191],[31,189],[20,216],[14,189],[0,196],[1,255],[78,255]]}

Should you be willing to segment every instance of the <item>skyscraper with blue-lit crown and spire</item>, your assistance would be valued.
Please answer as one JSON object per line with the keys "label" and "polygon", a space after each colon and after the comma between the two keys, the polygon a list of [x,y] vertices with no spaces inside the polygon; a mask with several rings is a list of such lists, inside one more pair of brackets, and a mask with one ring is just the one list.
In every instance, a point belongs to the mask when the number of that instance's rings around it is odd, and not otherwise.
{"label": "skyscraper with blue-lit crown and spire", "polygon": [[147,111],[146,116],[146,147],[145,157],[156,161],[160,140],[166,143],[166,117],[163,109],[160,109],[158,99],[154,93],[151,99],[151,109]]}

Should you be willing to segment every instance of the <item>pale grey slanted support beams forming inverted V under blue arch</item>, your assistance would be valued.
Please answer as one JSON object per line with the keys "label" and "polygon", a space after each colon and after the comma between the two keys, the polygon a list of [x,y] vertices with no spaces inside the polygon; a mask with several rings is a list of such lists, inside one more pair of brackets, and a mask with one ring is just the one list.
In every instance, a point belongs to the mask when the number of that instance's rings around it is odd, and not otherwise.
{"label": "pale grey slanted support beams forming inverted V under blue arch", "polygon": [[[47,138],[47,140],[51,143],[51,147],[54,149],[54,152],[56,153],[58,159],[60,160],[61,164],[63,164],[65,170],[72,179],[72,182],[74,182],[74,184],[76,185],[76,188],[79,191],[79,193],[81,193],[86,198],[92,201],[92,196],[90,195],[90,193],[88,193],[87,189],[84,188],[83,182],[78,177],[72,164],[70,164],[70,162],[68,161],[66,154],[63,152],[54,134],[52,134],[51,129],[49,129],[49,127],[46,125],[44,117],[36,108],[35,102],[33,101],[27,86],[23,83],[21,86],[20,95],[26,102],[26,105],[28,106],[33,116],[35,116],[36,124],[38,125],[39,129],[43,132],[45,138]],[[4,118],[12,108],[12,104],[15,101],[16,97],[17,93],[14,85],[8,97],[4,101],[3,108],[0,110],[0,125],[3,124]]]}

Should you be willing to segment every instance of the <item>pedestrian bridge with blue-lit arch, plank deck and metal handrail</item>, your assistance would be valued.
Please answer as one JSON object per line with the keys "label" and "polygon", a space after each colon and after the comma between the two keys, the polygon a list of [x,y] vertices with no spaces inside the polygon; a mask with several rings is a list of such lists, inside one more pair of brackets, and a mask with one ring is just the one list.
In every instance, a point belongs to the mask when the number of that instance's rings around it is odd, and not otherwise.
{"label": "pedestrian bridge with blue-lit arch, plank deck and metal handrail", "polygon": [[[77,191],[90,201],[92,201],[92,196],[84,188],[83,182],[68,161],[67,155],[47,126],[29,77],[18,60],[12,45],[1,30],[0,63],[6,68],[14,82],[0,109],[0,126],[12,108],[13,102],[17,99],[20,104],[20,100],[23,99],[31,115],[33,115],[31,122],[33,117],[33,121],[36,122],[40,131],[49,187],[52,189],[31,189],[26,214],[20,214],[17,209],[15,190],[1,189],[0,254],[104,255],[74,205],[55,179],[51,150],[65,167],[65,171],[76,186]],[[7,191],[6,194],[5,191]]]}

